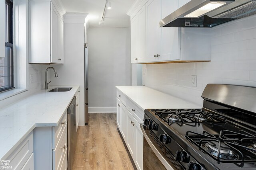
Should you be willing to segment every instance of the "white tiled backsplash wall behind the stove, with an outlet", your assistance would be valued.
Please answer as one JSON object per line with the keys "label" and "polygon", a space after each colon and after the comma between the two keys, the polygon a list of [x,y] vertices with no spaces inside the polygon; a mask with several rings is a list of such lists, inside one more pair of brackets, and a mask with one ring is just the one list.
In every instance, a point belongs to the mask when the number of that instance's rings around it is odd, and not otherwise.
{"label": "white tiled backsplash wall behind the stove, with an outlet", "polygon": [[[201,94],[208,83],[256,87],[256,16],[210,32],[211,62],[144,64],[143,84],[197,104],[202,104]],[[197,87],[191,86],[191,75],[197,75]]]}

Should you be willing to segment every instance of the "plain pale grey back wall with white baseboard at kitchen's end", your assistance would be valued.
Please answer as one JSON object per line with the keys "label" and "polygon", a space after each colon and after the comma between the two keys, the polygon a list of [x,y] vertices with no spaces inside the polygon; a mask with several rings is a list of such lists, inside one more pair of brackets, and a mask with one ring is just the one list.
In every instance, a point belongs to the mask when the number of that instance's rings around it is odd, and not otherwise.
{"label": "plain pale grey back wall with white baseboard at kitchen's end", "polygon": [[130,28],[88,29],[89,112],[116,112],[115,86],[131,85]]}

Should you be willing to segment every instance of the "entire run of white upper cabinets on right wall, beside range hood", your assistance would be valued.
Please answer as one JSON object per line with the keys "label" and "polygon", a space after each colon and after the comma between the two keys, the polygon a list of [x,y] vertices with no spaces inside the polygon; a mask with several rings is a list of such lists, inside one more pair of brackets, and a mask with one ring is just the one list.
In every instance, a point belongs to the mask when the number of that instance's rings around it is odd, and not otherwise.
{"label": "entire run of white upper cabinets on right wall, beside range hood", "polygon": [[128,11],[131,16],[131,63],[210,61],[209,29],[159,27],[160,20],[189,1],[136,1]]}

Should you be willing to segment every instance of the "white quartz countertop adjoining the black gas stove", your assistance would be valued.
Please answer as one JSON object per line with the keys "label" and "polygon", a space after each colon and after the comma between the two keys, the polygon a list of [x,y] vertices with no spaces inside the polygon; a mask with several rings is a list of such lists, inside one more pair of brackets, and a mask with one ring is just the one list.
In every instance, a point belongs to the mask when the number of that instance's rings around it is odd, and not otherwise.
{"label": "white quartz countertop adjoining the black gas stove", "polygon": [[170,96],[146,86],[116,86],[116,88],[143,110],[202,108],[202,105],[197,105],[187,100]]}

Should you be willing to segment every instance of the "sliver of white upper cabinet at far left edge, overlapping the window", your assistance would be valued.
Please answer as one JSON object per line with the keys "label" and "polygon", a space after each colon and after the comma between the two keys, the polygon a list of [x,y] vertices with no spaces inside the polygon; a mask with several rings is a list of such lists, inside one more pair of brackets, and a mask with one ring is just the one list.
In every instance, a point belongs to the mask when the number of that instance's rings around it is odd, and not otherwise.
{"label": "sliver of white upper cabinet at far left edge, overlapping the window", "polygon": [[5,1],[0,1],[0,57],[5,57]]}

